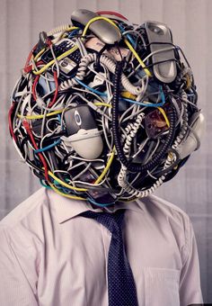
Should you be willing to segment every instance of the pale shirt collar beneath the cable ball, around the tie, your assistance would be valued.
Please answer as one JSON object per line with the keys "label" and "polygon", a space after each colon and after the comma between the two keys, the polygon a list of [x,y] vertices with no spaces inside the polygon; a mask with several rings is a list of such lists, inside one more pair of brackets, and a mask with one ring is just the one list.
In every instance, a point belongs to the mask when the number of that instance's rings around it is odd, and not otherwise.
{"label": "pale shirt collar beneath the cable ball, around the tie", "polygon": [[[84,211],[102,211],[102,208],[94,209],[88,202],[68,199],[52,190],[47,190],[47,194],[51,207],[56,212],[56,217],[59,223],[70,220]],[[132,202],[119,202],[115,205],[104,208],[104,211],[114,212],[119,209],[141,212],[144,211],[144,204],[140,200]]]}

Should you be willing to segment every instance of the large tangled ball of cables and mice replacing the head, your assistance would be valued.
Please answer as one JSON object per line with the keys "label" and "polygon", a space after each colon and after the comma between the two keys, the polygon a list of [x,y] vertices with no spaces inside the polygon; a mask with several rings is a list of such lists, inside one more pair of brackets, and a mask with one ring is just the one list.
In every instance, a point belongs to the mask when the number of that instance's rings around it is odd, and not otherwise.
{"label": "large tangled ball of cables and mice replacing the head", "polygon": [[[13,89],[9,127],[42,185],[107,206],[176,175],[199,148],[202,118],[190,65],[166,25],[95,15],[40,33]],[[119,40],[92,29],[101,21]]]}

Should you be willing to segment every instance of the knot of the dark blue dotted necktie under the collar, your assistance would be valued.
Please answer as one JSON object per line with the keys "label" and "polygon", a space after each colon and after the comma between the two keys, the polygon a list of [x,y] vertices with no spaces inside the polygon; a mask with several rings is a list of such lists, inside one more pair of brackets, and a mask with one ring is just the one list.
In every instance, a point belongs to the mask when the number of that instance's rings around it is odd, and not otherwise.
{"label": "knot of the dark blue dotted necktie under the collar", "polygon": [[122,221],[124,219],[125,210],[118,210],[113,213],[110,212],[95,212],[84,211],[80,215],[85,218],[95,219],[99,223],[102,223],[111,233],[121,230]]}

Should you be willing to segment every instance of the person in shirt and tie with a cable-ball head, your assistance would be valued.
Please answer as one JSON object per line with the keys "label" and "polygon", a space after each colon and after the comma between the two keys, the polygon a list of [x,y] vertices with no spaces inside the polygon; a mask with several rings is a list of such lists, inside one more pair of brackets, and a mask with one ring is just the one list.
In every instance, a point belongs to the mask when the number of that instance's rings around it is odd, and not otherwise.
{"label": "person in shirt and tie with a cable-ball head", "polygon": [[199,147],[190,67],[163,23],[77,10],[42,32],[12,94],[41,188],[1,221],[1,305],[201,303],[188,215],[151,195]]}

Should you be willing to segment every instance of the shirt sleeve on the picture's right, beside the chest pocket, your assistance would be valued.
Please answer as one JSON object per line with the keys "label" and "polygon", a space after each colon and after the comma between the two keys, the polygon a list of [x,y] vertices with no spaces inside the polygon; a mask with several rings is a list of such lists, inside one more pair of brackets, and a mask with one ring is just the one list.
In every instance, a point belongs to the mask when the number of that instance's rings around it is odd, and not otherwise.
{"label": "shirt sleeve on the picture's right, beside the chest pocket", "polygon": [[199,255],[194,230],[190,219],[186,221],[185,253],[186,257],[181,269],[180,299],[181,306],[202,303],[199,276]]}

